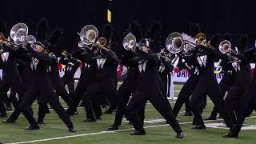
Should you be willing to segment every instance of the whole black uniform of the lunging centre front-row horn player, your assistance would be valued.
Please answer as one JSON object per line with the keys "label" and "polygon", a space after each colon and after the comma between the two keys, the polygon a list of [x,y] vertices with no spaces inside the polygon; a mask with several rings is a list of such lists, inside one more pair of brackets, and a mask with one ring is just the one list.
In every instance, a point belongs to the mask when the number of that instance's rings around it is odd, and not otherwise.
{"label": "whole black uniform of the lunging centre front-row horn player", "polygon": [[127,120],[133,122],[134,125],[135,131],[132,134],[146,134],[139,113],[145,107],[143,103],[150,100],[153,106],[162,114],[163,118],[166,118],[166,121],[170,123],[170,126],[172,126],[178,134],[177,138],[182,138],[182,129],[170,110],[170,107],[166,104],[164,94],[162,94],[162,82],[158,73],[158,56],[155,54],[147,54],[141,50],[138,50],[138,54],[142,58],[142,61],[138,63],[138,69],[140,71],[138,86],[133,96],[130,98],[126,113]]}

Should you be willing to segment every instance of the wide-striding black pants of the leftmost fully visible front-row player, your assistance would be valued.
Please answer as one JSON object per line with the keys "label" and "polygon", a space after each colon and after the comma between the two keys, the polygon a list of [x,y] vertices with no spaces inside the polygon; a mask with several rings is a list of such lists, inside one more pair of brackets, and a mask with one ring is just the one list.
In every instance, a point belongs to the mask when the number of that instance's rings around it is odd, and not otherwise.
{"label": "wide-striding black pants of the leftmost fully visible front-row player", "polygon": [[[41,90],[29,89],[24,94],[22,102],[20,103],[20,108],[24,113],[24,116],[27,118],[28,122],[30,122],[31,126],[38,126],[38,123],[35,121],[33,114],[30,112],[30,107],[36,99],[36,96],[40,95],[41,93]],[[46,94],[46,92],[44,92],[44,94]],[[73,127],[73,123],[70,121],[68,114],[66,114],[66,111],[62,107],[61,103],[58,101],[58,97],[53,92],[49,92],[48,94],[49,99],[47,99],[46,101],[58,114],[58,117],[62,119],[67,127]]]}

